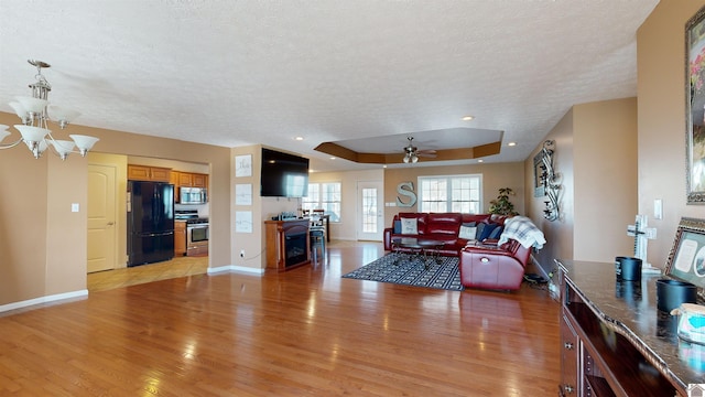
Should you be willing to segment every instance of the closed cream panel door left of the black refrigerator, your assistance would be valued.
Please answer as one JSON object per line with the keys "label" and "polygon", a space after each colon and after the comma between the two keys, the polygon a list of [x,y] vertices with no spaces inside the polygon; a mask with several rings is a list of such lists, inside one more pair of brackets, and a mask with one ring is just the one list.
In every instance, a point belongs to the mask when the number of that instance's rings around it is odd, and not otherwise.
{"label": "closed cream panel door left of the black refrigerator", "polygon": [[116,268],[115,165],[88,164],[88,272]]}

